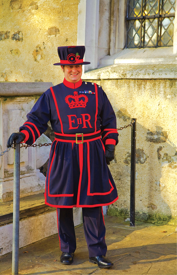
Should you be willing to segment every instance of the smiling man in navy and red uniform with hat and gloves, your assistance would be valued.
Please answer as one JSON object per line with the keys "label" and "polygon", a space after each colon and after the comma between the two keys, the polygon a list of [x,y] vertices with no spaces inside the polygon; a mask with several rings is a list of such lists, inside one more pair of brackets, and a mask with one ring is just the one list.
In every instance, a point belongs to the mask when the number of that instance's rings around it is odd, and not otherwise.
{"label": "smiling man in navy and red uniform with hat and gloves", "polygon": [[7,142],[33,144],[47,130],[55,133],[46,177],[45,204],[57,208],[61,263],[71,264],[76,249],[73,207],[82,208],[89,261],[110,267],[106,258],[102,206],[118,199],[107,164],[118,143],[116,116],[102,87],[81,80],[85,46],[58,47],[64,81],[44,92],[18,133]]}

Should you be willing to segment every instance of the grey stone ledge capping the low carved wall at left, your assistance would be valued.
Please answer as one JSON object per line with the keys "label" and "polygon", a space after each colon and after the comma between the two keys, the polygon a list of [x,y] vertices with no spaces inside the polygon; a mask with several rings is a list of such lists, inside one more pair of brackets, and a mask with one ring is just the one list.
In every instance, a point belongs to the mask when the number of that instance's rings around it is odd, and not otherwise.
{"label": "grey stone ledge capping the low carved wall at left", "polygon": [[0,82],[0,96],[42,95],[52,82]]}

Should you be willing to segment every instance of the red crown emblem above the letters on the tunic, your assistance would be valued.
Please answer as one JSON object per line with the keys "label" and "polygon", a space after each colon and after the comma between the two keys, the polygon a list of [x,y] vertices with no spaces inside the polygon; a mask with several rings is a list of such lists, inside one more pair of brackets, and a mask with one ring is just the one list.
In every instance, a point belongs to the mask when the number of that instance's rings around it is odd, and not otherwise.
{"label": "red crown emblem above the letters on the tunic", "polygon": [[[71,102],[68,100],[69,98],[73,98],[74,100],[71,100]],[[85,98],[85,101],[83,101],[82,99],[79,101],[79,98]],[[65,97],[65,101],[66,103],[69,105],[70,109],[73,108],[78,108],[78,107],[82,107],[85,108],[86,104],[88,102],[88,97],[86,95],[78,95],[78,92],[75,91],[74,95],[67,95]]]}

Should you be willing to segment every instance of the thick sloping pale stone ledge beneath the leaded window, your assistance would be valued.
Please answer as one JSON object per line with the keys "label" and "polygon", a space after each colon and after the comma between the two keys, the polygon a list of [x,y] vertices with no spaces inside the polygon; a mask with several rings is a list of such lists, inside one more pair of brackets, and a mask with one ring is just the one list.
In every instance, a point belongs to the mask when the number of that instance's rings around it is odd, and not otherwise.
{"label": "thick sloping pale stone ledge beneath the leaded window", "polygon": [[104,57],[97,69],[82,75],[85,80],[164,78],[176,78],[173,47],[123,49],[113,56]]}

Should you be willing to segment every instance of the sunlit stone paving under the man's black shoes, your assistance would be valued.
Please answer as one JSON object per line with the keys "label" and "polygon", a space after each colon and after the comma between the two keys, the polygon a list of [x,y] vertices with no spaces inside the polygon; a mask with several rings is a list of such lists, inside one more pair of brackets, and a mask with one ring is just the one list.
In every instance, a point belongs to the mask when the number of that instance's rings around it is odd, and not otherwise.
{"label": "sunlit stone paving under the man's black shoes", "polygon": [[[176,233],[169,225],[136,222],[130,227],[123,218],[105,216],[106,256],[114,266],[99,268],[88,261],[83,226],[75,228],[77,249],[74,263],[60,263],[58,234],[19,250],[19,274],[113,274],[113,275],[176,275]],[[161,232],[167,231],[167,232]],[[12,253],[0,257],[0,275],[9,275]]]}

